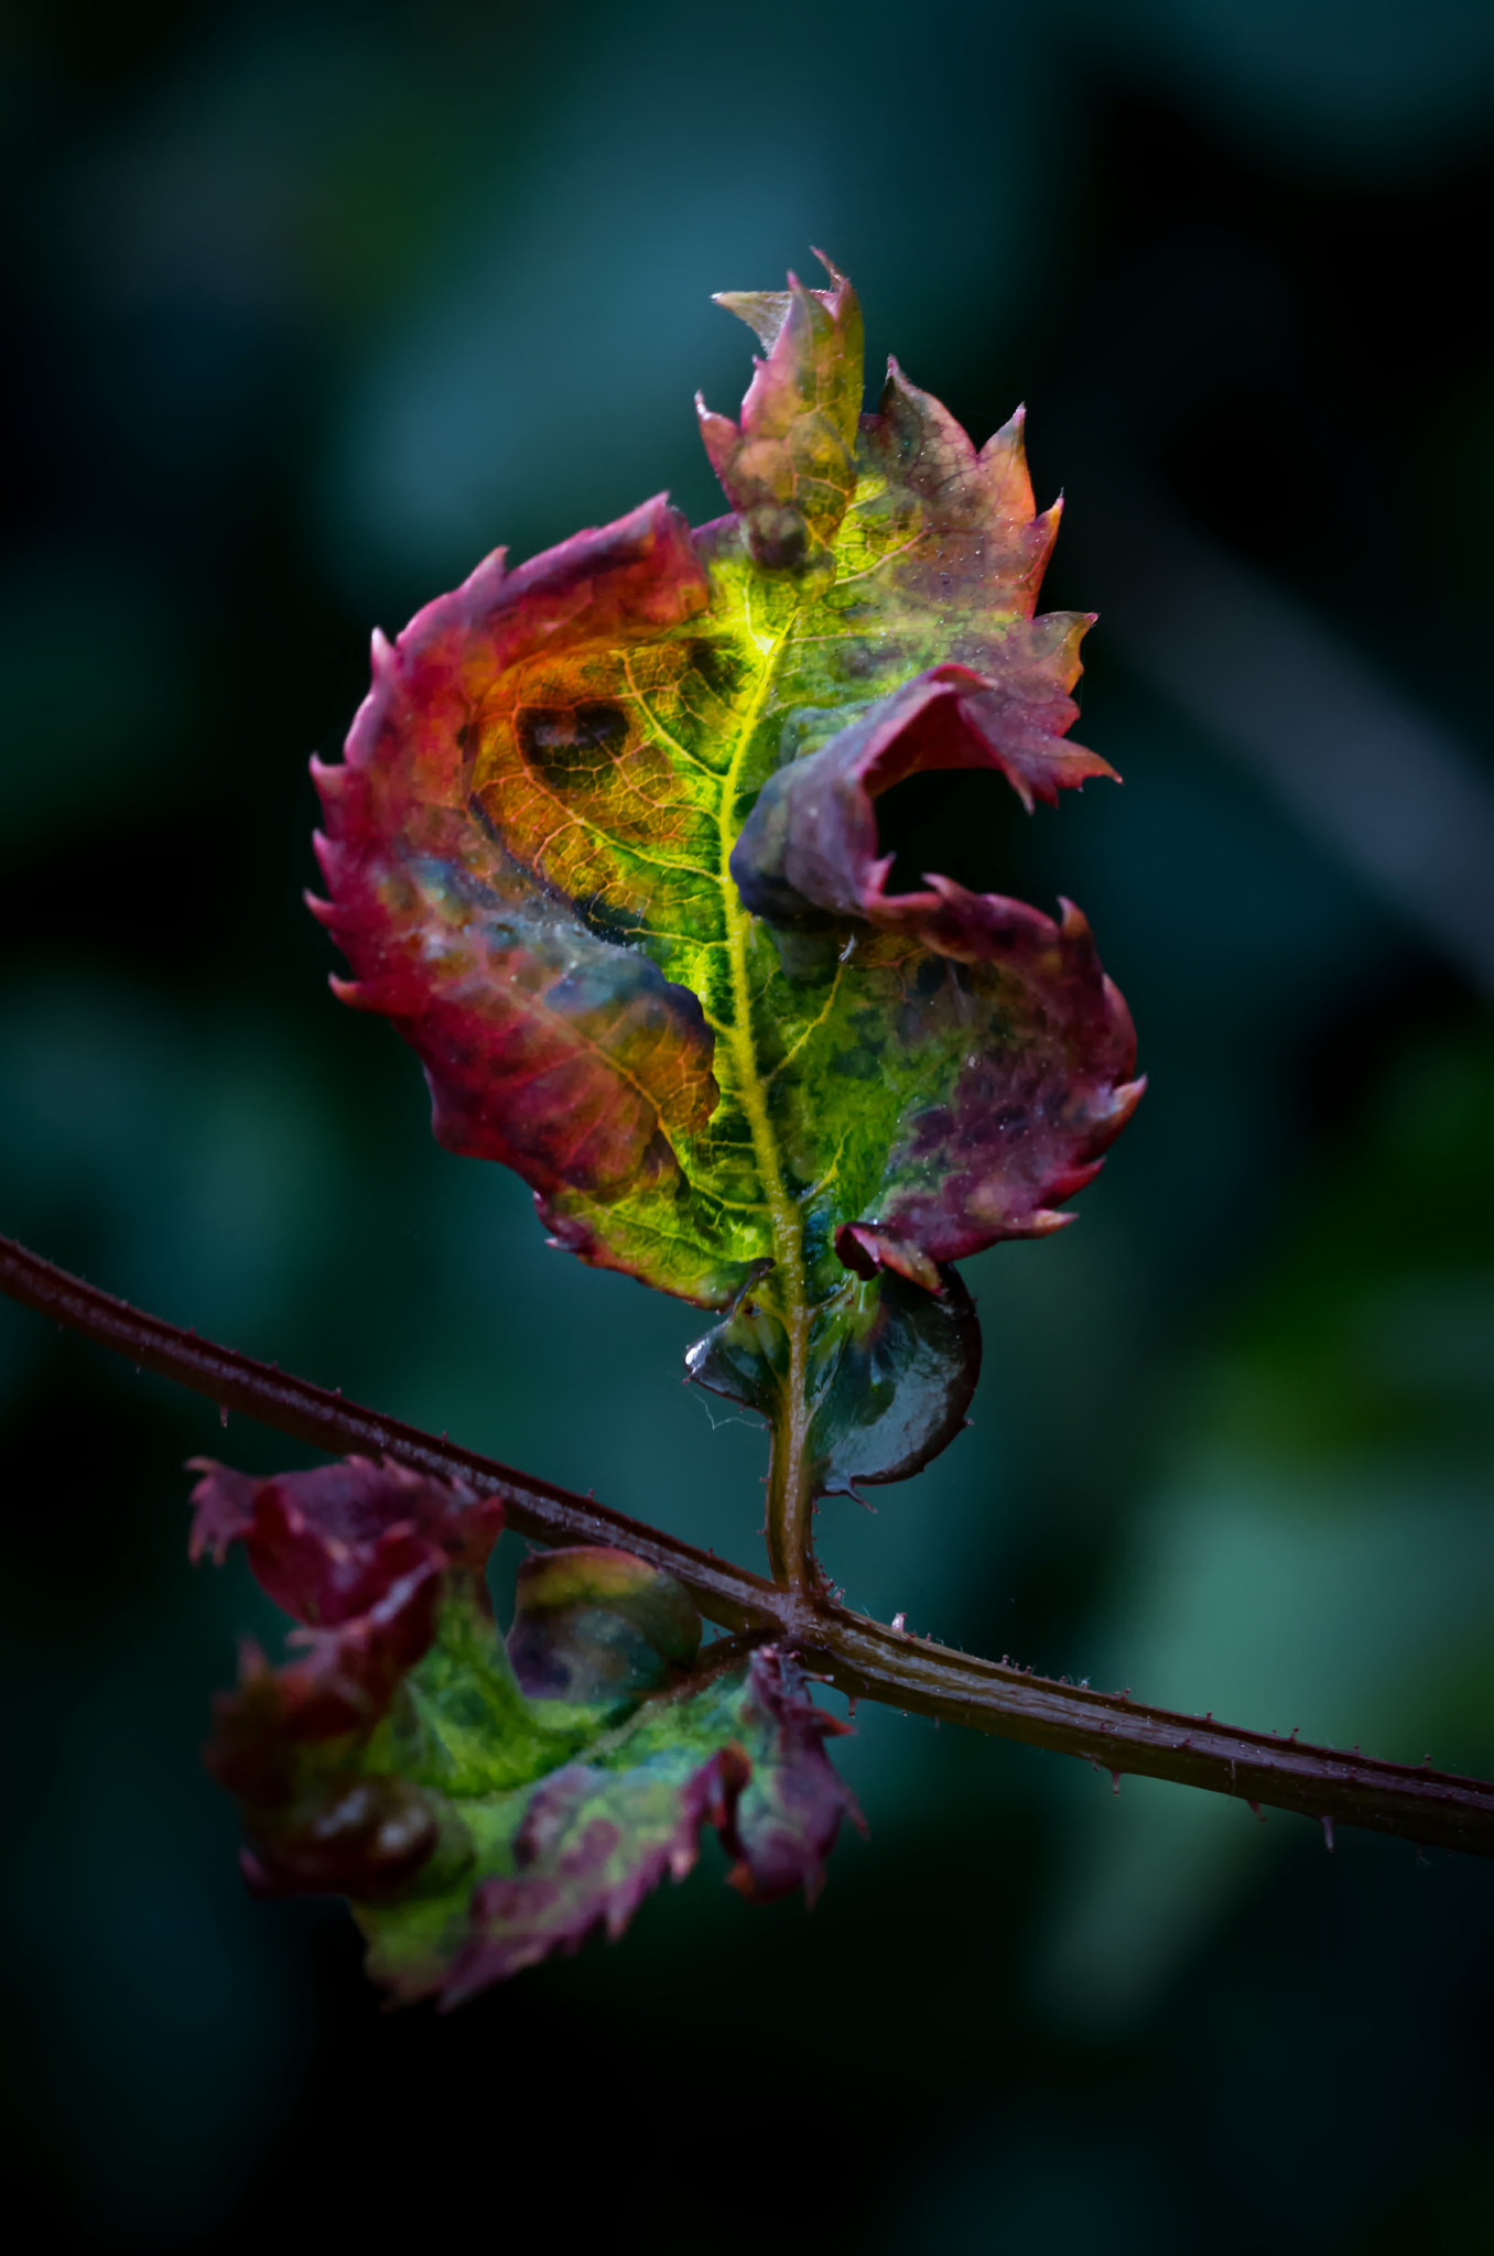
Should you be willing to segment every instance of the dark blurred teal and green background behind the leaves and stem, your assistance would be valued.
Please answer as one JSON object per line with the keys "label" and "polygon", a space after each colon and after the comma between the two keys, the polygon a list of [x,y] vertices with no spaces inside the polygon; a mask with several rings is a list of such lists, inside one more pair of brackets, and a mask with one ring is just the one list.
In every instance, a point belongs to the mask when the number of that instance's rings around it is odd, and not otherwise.
{"label": "dark blurred teal and green background behind the leaves and stem", "polygon": [[[307,756],[397,629],[661,485],[709,305],[821,241],[873,368],[1067,487],[1081,735],[977,875],[1090,911],[1151,1094],[970,1263],[977,1426],[855,1604],[1241,1724],[1494,1766],[1487,0],[34,0],[0,14],[0,1227],[756,1554],[691,1311],[544,1250],[339,1011]],[[720,1415],[720,1405],[715,1405]],[[862,1708],[806,1920],[381,2015],[199,1769],[302,1462],[0,1304],[0,2121],[54,2242],[438,2231],[896,2256],[1494,2247],[1494,1872]]]}

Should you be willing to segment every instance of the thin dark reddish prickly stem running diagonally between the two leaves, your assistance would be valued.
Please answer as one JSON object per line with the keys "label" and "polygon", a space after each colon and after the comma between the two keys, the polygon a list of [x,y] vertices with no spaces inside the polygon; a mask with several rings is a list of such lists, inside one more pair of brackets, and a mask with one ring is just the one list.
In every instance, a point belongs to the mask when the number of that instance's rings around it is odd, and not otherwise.
{"label": "thin dark reddish prickly stem running diagonally between the two leaves", "polygon": [[[991,1730],[1027,1746],[1079,1755],[1119,1775],[1171,1778],[1243,1803],[1295,1809],[1341,1825],[1399,1834],[1426,1848],[1494,1857],[1494,1784],[1431,1766],[1345,1755],[1275,1733],[1239,1730],[1146,1708],[1122,1692],[1061,1685],[979,1660],[833,1606],[808,1588],[783,1588],[693,1543],[643,1527],[589,1496],[515,1473],[445,1437],[361,1410],[341,1394],[199,1340],[129,1302],[70,1277],[0,1239],[0,1290],[111,1347],[131,1363],[241,1410],[332,1455],[379,1453],[503,1498],[508,1525],[537,1543],[609,1543],[675,1575],[706,1620],[776,1638],[853,1699]],[[808,1514],[806,1514],[808,1516]]]}

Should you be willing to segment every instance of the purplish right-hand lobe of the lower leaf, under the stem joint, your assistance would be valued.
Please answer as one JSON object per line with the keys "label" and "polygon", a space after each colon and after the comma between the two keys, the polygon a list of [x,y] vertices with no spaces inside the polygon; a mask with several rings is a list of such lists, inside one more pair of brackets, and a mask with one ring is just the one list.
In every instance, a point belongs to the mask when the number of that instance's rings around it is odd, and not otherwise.
{"label": "purplish right-hand lobe of the lower leaf, under the stem joint", "polygon": [[851,1818],[867,1832],[851,1787],[824,1751],[826,1739],[842,1737],[851,1726],[806,1699],[803,1672],[772,1645],[752,1656],[742,1724],[752,1778],[720,1827],[722,1843],[738,1859],[731,1886],[756,1904],[803,1888],[812,1904],[842,1821]]}

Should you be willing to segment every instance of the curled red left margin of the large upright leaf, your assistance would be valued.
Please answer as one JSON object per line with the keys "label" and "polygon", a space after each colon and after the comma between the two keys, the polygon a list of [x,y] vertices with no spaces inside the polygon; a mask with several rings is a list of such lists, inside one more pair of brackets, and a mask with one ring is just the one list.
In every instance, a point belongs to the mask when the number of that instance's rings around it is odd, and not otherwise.
{"label": "curled red left margin of the large upright leaf", "polygon": [[697,999],[587,929],[469,808],[485,697],[535,652],[645,643],[706,605],[691,528],[663,496],[519,571],[503,550],[418,611],[375,679],[343,767],[311,763],[329,900],[352,963],[334,990],[420,1054],[449,1151],[544,1198],[679,1175],[670,1139],[715,1110]]}

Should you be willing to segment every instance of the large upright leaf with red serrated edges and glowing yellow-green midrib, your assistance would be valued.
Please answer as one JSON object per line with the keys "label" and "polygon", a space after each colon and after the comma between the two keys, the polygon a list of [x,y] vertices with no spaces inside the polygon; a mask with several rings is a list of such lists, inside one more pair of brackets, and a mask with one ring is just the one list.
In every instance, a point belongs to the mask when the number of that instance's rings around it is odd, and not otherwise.
{"label": "large upright leaf with red serrated edges and glowing yellow-green midrib", "polygon": [[[659,496],[496,553],[375,645],[316,769],[339,993],[415,1045],[436,1135],[515,1166],[587,1261],[718,1311],[752,1290],[790,1345],[756,1365],[767,1415],[844,1394],[885,1272],[939,1297],[1056,1227],[1140,1094],[1076,909],[887,893],[894,783],[986,767],[1031,808],[1110,769],[1065,738],[1088,618],[1034,616],[1058,510],[1022,417],[977,453],[889,363],[858,422],[828,275],[722,298],[765,345],[740,422],[700,408],[733,514],[691,532]],[[878,1369],[925,1374],[943,1331],[955,1403],[973,1322],[912,1311],[887,1299]],[[821,1430],[871,1424],[842,1401]],[[878,1464],[959,1419],[903,1426]]]}

